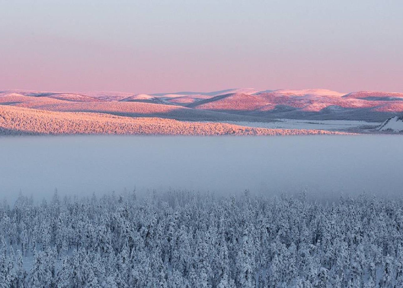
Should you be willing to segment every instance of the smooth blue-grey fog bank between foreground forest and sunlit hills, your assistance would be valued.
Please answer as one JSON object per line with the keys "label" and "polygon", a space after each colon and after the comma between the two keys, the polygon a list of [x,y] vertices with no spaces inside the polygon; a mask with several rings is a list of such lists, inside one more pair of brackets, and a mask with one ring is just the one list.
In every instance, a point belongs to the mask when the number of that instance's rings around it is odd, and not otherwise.
{"label": "smooth blue-grey fog bank between foreground forest and sunlit hills", "polygon": [[168,187],[339,196],[403,192],[403,137],[53,136],[0,138],[0,196]]}

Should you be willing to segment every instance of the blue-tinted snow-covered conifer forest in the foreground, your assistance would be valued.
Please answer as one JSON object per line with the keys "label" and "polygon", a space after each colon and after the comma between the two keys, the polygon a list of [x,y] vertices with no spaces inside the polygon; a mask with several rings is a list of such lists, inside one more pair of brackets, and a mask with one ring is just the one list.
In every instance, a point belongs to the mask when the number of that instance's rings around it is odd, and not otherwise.
{"label": "blue-tinted snow-covered conifer forest in the foreground", "polygon": [[0,207],[0,287],[403,287],[403,200],[168,191]]}

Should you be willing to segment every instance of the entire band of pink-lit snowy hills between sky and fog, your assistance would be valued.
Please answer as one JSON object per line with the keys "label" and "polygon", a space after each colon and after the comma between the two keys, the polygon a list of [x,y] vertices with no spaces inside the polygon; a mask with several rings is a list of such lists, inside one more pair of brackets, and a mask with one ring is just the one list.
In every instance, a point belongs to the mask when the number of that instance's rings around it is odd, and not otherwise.
{"label": "entire band of pink-lit snowy hills between sky and fog", "polygon": [[[326,89],[272,91],[253,88],[158,94],[12,90],[0,92],[0,108],[3,134],[344,133],[368,132],[386,119],[403,113],[403,93],[361,91],[345,94]],[[275,124],[269,124],[284,123],[287,119],[295,119],[292,122],[295,125],[288,125],[287,131],[283,128],[279,131]],[[304,129],[301,128],[303,122],[295,122],[298,119],[312,122],[305,122],[309,128]],[[23,124],[32,121],[36,124]],[[321,121],[350,122],[338,122],[339,126],[335,127],[334,123],[327,125]],[[311,129],[313,123],[317,123],[318,129]]]}

